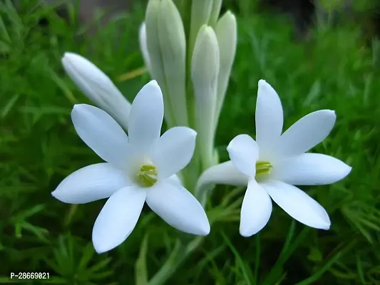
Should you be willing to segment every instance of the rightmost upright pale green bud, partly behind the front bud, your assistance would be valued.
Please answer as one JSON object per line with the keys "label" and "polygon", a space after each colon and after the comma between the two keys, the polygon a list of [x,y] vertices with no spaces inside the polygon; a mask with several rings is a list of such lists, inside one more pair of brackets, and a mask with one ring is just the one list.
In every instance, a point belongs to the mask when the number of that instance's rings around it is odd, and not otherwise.
{"label": "rightmost upright pale green bud, partly behind the front bud", "polygon": [[217,104],[215,110],[215,129],[219,120],[220,111],[225,100],[228,81],[230,80],[232,63],[235,59],[237,46],[237,26],[236,18],[227,11],[215,28],[217,43],[220,51],[220,71],[217,78]]}

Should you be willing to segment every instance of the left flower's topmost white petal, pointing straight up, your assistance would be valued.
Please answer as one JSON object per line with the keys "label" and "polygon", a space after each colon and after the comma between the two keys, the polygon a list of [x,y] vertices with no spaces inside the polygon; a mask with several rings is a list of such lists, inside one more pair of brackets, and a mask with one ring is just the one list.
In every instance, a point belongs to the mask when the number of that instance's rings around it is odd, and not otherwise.
{"label": "left flower's topmost white petal, pointing straight up", "polygon": [[130,108],[128,135],[140,152],[148,152],[160,138],[163,125],[163,93],[156,81],[141,88]]}

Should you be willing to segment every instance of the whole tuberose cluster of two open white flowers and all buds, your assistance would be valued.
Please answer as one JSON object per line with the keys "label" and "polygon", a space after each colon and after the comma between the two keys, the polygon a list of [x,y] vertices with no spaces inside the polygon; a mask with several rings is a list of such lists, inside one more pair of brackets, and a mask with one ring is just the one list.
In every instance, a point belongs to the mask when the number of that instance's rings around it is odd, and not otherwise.
{"label": "whole tuberose cluster of two open white flowers and all buds", "polygon": [[[310,113],[282,133],[279,96],[260,80],[256,140],[237,135],[227,146],[230,160],[218,162],[215,129],[236,48],[235,16],[227,12],[219,19],[221,3],[192,1],[187,42],[173,1],[149,1],[140,48],[153,80],[132,104],[86,58],[63,56],[68,76],[98,106],[75,105],[74,128],[104,162],[73,172],[52,195],[71,204],[108,198],[93,227],[97,252],[129,236],[145,202],[180,231],[209,234],[204,207],[217,184],[247,186],[240,212],[244,237],[265,227],[272,200],[309,227],[330,227],[325,209],[294,185],[327,185],[351,171],[334,157],[305,153],[329,135],[334,111]],[[161,135],[164,110],[168,130]]]}

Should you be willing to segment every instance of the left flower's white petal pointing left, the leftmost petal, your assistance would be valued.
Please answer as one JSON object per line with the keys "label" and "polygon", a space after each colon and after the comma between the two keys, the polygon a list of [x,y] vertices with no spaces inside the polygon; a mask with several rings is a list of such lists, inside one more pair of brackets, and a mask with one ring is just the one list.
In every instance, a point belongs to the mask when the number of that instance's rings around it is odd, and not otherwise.
{"label": "left flower's white petal pointing left, the leftmost petal", "polygon": [[108,198],[130,185],[123,171],[109,163],[88,165],[68,175],[51,195],[61,202],[83,204]]}

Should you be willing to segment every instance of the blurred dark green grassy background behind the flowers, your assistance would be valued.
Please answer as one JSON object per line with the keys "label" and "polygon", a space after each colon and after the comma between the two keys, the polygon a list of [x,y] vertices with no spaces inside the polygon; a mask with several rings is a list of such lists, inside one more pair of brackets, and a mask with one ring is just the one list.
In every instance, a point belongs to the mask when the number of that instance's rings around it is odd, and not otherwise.
{"label": "blurred dark green grassy background behind the flowers", "polygon": [[[144,209],[126,242],[96,254],[91,232],[104,201],[51,197],[64,177],[100,162],[71,124],[73,104],[89,101],[61,56],[85,56],[133,100],[149,81],[138,48],[146,4],[0,1],[1,284],[17,271],[50,273],[24,284],[146,284],[140,270],[153,276],[173,250],[175,229]],[[334,185],[302,187],[329,212],[329,231],[276,206],[260,234],[243,238],[237,212],[216,222],[165,284],[380,284],[379,9],[379,0],[223,1],[222,12],[237,16],[238,46],[217,131],[221,160],[235,135],[254,135],[264,78],[279,93],[286,128],[314,110],[336,111],[334,130],[314,151],[353,170]],[[217,187],[211,204],[231,190]]]}

